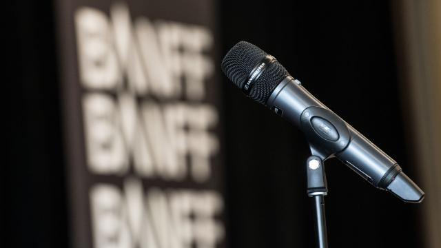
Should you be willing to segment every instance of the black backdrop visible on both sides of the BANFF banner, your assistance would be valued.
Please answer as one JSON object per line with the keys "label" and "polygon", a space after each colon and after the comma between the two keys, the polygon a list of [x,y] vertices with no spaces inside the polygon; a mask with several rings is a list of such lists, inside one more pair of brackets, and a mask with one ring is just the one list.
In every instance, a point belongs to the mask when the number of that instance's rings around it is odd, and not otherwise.
{"label": "black backdrop visible on both sides of the BANFF banner", "polygon": [[[8,64],[3,247],[68,247],[54,3],[17,1]],[[218,1],[221,54],[237,41],[277,57],[322,103],[416,178],[407,163],[388,1]],[[218,64],[220,61],[218,61]],[[223,83],[230,247],[314,247],[302,134]],[[246,129],[243,127],[247,127]],[[331,247],[419,247],[418,205],[327,161]],[[418,183],[418,180],[416,180]]]}

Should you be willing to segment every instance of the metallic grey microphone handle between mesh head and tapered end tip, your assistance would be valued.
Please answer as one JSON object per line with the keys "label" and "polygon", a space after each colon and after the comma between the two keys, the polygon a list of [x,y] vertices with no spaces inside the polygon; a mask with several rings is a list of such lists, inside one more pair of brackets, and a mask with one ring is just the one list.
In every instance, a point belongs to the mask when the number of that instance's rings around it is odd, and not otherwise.
{"label": "metallic grey microphone handle between mesh head and tapered end tip", "polygon": [[305,132],[313,155],[323,160],[336,156],[375,187],[387,189],[401,172],[396,161],[329,110],[292,76],[276,86],[267,107]]}

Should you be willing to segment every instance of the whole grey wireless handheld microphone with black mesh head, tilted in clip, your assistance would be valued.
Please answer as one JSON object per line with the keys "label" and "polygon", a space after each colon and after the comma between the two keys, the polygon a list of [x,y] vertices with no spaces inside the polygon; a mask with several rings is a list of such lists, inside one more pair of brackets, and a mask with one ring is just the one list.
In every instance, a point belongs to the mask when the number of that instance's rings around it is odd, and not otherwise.
{"label": "whole grey wireless handheld microphone with black mesh head, tilted in clip", "polygon": [[320,103],[274,56],[240,41],[225,55],[222,70],[249,98],[299,127],[312,155],[322,161],[338,158],[373,186],[405,202],[420,203],[424,198],[396,161]]}

